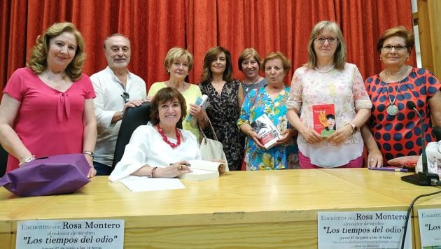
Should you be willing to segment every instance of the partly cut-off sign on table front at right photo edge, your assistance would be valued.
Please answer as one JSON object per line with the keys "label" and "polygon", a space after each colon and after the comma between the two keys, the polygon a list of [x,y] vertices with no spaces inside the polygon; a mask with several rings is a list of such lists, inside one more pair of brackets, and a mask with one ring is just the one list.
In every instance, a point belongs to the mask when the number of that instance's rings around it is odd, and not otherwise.
{"label": "partly cut-off sign on table front at right photo edge", "polygon": [[441,248],[441,209],[419,209],[421,248]]}

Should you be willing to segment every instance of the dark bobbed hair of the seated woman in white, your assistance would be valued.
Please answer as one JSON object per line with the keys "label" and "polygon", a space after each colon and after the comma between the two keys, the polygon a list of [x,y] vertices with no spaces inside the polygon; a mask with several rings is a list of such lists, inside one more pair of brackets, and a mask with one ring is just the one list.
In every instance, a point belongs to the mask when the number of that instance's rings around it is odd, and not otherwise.
{"label": "dark bobbed hair of the seated woman in white", "polygon": [[159,120],[159,106],[162,103],[173,101],[176,99],[181,105],[181,120],[187,115],[186,99],[182,96],[181,92],[176,90],[174,87],[165,87],[159,90],[150,106],[150,122],[153,125],[158,125]]}

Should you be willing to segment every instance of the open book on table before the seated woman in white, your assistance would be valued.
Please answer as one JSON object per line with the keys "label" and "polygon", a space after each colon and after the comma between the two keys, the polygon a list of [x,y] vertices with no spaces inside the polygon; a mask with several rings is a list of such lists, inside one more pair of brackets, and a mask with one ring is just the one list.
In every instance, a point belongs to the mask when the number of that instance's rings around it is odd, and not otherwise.
{"label": "open book on table before the seated woman in white", "polygon": [[190,160],[190,173],[185,173],[179,178],[186,180],[209,180],[219,177],[219,166],[221,162],[211,162],[205,160]]}

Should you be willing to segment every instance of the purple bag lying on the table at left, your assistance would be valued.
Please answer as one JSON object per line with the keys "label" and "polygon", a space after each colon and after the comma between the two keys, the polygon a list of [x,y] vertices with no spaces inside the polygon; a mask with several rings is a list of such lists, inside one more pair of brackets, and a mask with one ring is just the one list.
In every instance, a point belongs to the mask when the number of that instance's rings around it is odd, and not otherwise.
{"label": "purple bag lying on the table at left", "polygon": [[69,194],[90,182],[89,171],[83,154],[41,157],[6,173],[0,187],[19,197]]}

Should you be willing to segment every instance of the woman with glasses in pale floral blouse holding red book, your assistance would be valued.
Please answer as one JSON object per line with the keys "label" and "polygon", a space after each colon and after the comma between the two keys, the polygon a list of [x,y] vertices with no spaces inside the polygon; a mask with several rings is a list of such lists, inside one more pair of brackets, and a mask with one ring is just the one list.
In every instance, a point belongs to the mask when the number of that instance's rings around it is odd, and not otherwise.
{"label": "woman with glasses in pale floral blouse holding red book", "polygon": [[[311,31],[309,60],[295,70],[288,119],[299,131],[302,169],[361,167],[363,139],[358,127],[370,117],[372,103],[357,66],[346,63],[346,45],[337,23],[321,21]],[[314,130],[313,106],[334,105],[336,131]],[[300,118],[299,118],[300,114]]]}

